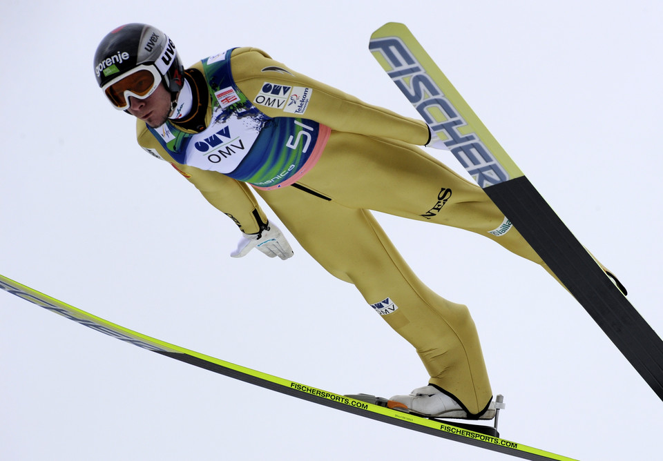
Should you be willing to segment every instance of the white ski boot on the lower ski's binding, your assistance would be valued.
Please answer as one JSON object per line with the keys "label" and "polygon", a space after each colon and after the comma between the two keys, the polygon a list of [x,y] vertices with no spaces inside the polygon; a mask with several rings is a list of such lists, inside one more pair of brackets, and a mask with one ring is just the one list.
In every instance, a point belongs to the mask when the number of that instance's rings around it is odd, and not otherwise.
{"label": "white ski boot on the lower ski's binding", "polygon": [[[390,398],[387,406],[391,409],[402,409],[408,413],[422,415],[427,418],[476,419],[470,418],[470,415],[454,399],[435,386],[430,385],[414,389],[410,395],[394,395]],[[495,404],[490,402],[488,410],[479,419],[492,420],[494,417]]]}

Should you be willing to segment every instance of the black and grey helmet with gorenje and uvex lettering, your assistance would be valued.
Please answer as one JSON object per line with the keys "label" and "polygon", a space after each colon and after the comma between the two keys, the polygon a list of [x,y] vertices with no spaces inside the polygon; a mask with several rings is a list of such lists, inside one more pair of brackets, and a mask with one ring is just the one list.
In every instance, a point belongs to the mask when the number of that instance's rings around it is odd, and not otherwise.
{"label": "black and grey helmet with gorenje and uvex lettering", "polygon": [[[160,75],[161,81],[173,95],[184,84],[184,68],[175,44],[157,28],[148,24],[126,24],[108,33],[99,43],[95,53],[95,75],[99,87],[104,88],[139,67]],[[117,106],[115,102],[113,104]]]}

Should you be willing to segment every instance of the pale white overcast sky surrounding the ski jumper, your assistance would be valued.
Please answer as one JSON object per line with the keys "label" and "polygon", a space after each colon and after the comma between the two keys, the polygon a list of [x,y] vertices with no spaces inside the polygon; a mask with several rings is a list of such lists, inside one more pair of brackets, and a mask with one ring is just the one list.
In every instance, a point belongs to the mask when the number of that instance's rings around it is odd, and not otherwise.
{"label": "pale white overcast sky surrounding the ski jumper", "polygon": [[[186,65],[256,46],[416,117],[367,50],[373,30],[399,21],[663,333],[659,0],[181,3],[4,4],[0,273],[335,393],[425,385],[411,346],[294,239],[287,262],[231,259],[236,226],[137,146],[134,119],[111,108],[93,75],[106,32],[147,22]],[[544,271],[469,233],[379,219],[427,284],[470,306],[506,398],[503,438],[582,460],[656,458],[662,402]],[[0,293],[0,458],[507,457],[181,364]]]}

